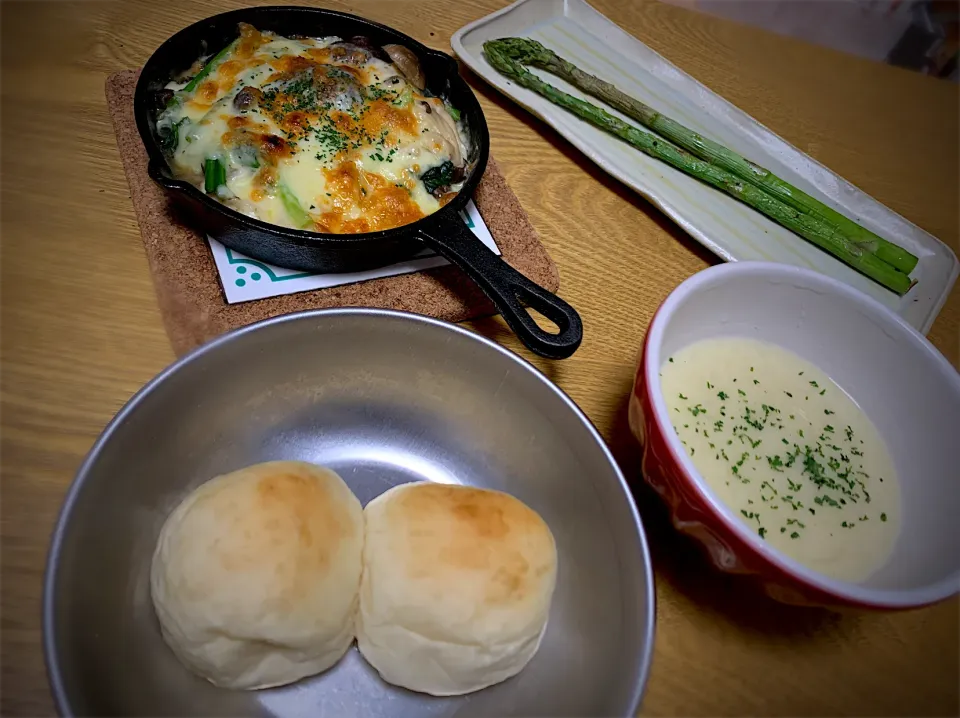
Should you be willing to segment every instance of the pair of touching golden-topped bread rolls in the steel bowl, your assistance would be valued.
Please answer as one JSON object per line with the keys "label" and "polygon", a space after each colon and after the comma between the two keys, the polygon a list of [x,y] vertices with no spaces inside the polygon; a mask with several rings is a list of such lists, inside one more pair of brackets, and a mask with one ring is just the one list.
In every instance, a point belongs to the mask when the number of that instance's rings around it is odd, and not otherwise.
{"label": "pair of touching golden-topped bread rolls in the steel bowl", "polygon": [[404,484],[364,510],[333,471],[277,461],[174,510],[151,590],[167,644],[215,685],[291,683],[356,637],[384,680],[446,696],[527,664],[556,569],[549,528],[507,494]]}

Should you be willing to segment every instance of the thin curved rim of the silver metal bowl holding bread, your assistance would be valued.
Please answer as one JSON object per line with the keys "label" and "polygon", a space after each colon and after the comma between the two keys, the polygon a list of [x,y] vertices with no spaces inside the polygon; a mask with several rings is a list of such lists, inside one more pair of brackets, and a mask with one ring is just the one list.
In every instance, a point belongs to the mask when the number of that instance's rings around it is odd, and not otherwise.
{"label": "thin curved rim of the silver metal bowl holding bread", "polygon": [[643,696],[646,692],[647,681],[650,677],[650,666],[653,658],[653,644],[656,634],[656,590],[654,587],[653,564],[650,557],[650,549],[647,544],[646,533],[643,530],[643,522],[640,519],[636,502],[634,501],[633,495],[630,492],[630,487],[623,476],[623,472],[620,470],[620,466],[614,459],[613,454],[610,452],[609,447],[607,447],[606,442],[600,436],[600,432],[597,431],[596,427],[593,425],[593,422],[590,421],[580,407],[577,406],[576,403],[574,403],[574,401],[567,396],[567,394],[559,386],[557,386],[546,375],[544,375],[543,372],[541,372],[523,357],[510,351],[509,349],[506,349],[505,347],[500,346],[492,339],[488,339],[487,337],[472,332],[461,326],[451,324],[440,319],[426,317],[420,314],[396,311],[392,309],[359,307],[311,309],[301,312],[292,312],[290,314],[282,314],[270,319],[264,319],[262,321],[255,322],[253,324],[248,324],[215,337],[183,355],[163,369],[153,379],[144,384],[143,387],[141,387],[136,393],[134,393],[133,396],[130,397],[130,399],[127,400],[121,409],[107,423],[103,431],[101,431],[93,446],[87,452],[86,457],[81,463],[80,468],[77,470],[73,481],[70,483],[70,486],[67,489],[66,496],[63,499],[63,504],[61,505],[60,511],[57,515],[56,523],[54,525],[53,535],[50,540],[50,548],[47,552],[47,563],[43,574],[43,615],[41,621],[43,631],[43,658],[47,669],[47,680],[50,684],[50,690],[53,695],[54,705],[57,713],[63,718],[74,718],[73,709],[67,702],[66,690],[64,689],[63,685],[63,677],[60,673],[59,658],[55,648],[56,631],[54,628],[53,613],[54,598],[56,595],[57,568],[60,564],[60,553],[63,548],[66,526],[73,514],[77,497],[83,490],[83,485],[86,481],[87,475],[90,473],[91,468],[99,458],[103,447],[111,440],[117,427],[122,424],[130,414],[136,411],[139,405],[142,404],[149,395],[159,391],[170,376],[180,371],[190,362],[195,361],[198,357],[218,351],[227,344],[238,341],[243,336],[260,331],[266,327],[277,324],[285,324],[287,322],[309,320],[315,317],[334,316],[381,319],[389,318],[400,319],[402,321],[411,321],[420,324],[426,324],[443,331],[453,332],[454,334],[457,334],[468,341],[476,342],[484,349],[496,352],[503,358],[513,362],[519,369],[532,374],[536,379],[538,379],[547,391],[559,398],[567,407],[567,409],[569,409],[574,416],[579,419],[580,424],[590,434],[597,446],[600,447],[600,450],[603,452],[607,463],[613,469],[613,472],[617,477],[620,489],[627,499],[627,507],[630,511],[630,516],[633,519],[633,527],[636,530],[637,542],[639,544],[640,553],[643,557],[644,567],[646,569],[644,571],[644,590],[647,592],[649,600],[647,603],[646,615],[643,617],[643,629],[646,632],[648,639],[646,644],[641,648],[639,670],[637,671],[638,675],[636,676],[633,696],[631,697],[630,701],[630,710],[627,716],[625,716],[625,718],[633,718],[633,716],[637,714],[637,711],[640,710],[640,704],[643,701]]}

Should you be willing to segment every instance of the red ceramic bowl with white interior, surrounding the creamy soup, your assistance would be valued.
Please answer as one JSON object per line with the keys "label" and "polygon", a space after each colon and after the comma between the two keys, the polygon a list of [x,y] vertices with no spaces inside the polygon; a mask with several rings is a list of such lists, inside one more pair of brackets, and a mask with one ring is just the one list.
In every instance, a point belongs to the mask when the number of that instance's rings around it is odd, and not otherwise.
{"label": "red ceramic bowl with white interior, surrounding the creamy soup", "polygon": [[[862,583],[813,571],[771,547],[698,474],[670,421],[662,362],[692,342],[743,336],[782,346],[831,376],[887,444],[900,477],[902,524],[887,564]],[[904,609],[960,593],[960,375],[915,329],[823,275],[762,262],[712,267],[657,310],[629,408],[643,475],[674,526],[722,571],[748,574],[798,605]]]}

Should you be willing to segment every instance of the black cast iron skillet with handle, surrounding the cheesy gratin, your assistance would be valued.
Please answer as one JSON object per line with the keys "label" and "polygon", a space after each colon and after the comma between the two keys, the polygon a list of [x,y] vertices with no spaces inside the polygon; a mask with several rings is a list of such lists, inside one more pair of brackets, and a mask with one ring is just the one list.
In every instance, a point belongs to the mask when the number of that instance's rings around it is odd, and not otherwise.
{"label": "black cast iron skillet with handle, surrounding the cheesy gratin", "polygon": [[[174,178],[155,131],[156,94],[198,57],[217,52],[239,34],[238,23],[281,35],[350,38],[365,35],[377,45],[405,45],[420,59],[427,88],[448,98],[469,129],[467,178],[460,193],[434,214],[412,224],[364,234],[320,234],[287,229],[247,217],[208,197],[189,182]],[[137,129],[150,157],[150,176],[196,217],[222,244],[272,264],[315,272],[350,272],[408,259],[424,245],[460,267],[490,297],[520,340],[542,356],[563,359],[583,337],[577,312],[559,297],[531,282],[497,257],[470,232],[459,212],[473,196],[487,166],[490,136],[480,104],[449,55],[431,50],[403,33],[354,15],[303,7],[258,7],[215,15],[194,23],[164,42],[147,61],[134,96]],[[523,306],[536,309],[559,327],[540,329]]]}

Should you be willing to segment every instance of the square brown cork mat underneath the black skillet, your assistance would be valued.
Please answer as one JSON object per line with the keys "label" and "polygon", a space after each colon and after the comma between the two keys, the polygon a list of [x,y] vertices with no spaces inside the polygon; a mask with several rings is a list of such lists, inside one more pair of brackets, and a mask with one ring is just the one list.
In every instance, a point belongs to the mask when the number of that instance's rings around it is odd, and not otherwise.
{"label": "square brown cork mat underneath the black skillet", "polygon": [[[223,332],[279,314],[329,307],[377,307],[459,322],[495,313],[477,286],[459,269],[439,267],[298,294],[227,304],[204,236],[180,221],[163,189],[147,175],[147,153],[133,115],[138,71],[107,78],[123,169],[160,304],[164,326],[180,355]],[[556,292],[560,278],[517,196],[490,160],[474,202],[505,259],[537,284]]]}

